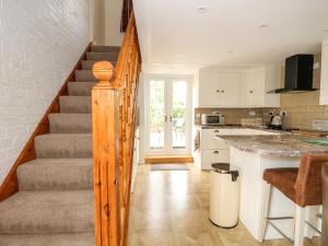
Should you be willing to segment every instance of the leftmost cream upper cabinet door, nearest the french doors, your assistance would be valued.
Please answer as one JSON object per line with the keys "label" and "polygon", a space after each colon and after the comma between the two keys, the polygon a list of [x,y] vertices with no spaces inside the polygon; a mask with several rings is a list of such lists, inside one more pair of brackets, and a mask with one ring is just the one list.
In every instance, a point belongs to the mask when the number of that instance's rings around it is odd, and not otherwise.
{"label": "leftmost cream upper cabinet door, nearest the french doors", "polygon": [[199,73],[199,106],[209,107],[219,105],[220,81],[218,72]]}

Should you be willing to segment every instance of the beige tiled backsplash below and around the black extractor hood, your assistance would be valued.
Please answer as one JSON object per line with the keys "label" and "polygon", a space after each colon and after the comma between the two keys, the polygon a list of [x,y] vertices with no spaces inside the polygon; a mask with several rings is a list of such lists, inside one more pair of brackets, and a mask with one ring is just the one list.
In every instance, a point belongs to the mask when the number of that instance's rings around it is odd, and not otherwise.
{"label": "beige tiled backsplash below and around the black extractor hood", "polygon": [[[315,62],[320,62],[320,55],[315,56]],[[282,69],[282,84],[283,84]],[[320,69],[314,70],[314,87],[320,86]],[[328,118],[328,106],[319,105],[319,91],[281,94],[280,106],[282,110],[286,110],[288,115],[284,119],[284,127],[311,129],[313,119]]]}

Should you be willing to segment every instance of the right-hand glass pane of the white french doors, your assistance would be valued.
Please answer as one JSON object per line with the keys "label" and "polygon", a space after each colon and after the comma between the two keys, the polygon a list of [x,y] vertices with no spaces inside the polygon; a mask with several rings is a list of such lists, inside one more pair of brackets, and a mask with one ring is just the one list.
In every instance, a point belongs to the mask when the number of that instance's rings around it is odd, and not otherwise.
{"label": "right-hand glass pane of the white french doors", "polygon": [[187,148],[187,103],[186,80],[172,80],[171,137],[174,150]]}

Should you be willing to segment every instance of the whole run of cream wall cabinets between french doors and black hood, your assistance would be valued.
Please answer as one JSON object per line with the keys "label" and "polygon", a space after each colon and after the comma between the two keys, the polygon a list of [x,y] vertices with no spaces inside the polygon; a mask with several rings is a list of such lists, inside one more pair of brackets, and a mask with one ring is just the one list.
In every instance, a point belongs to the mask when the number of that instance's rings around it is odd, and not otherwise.
{"label": "whole run of cream wall cabinets between french doors and black hood", "polygon": [[280,67],[248,71],[200,71],[199,107],[279,107]]}

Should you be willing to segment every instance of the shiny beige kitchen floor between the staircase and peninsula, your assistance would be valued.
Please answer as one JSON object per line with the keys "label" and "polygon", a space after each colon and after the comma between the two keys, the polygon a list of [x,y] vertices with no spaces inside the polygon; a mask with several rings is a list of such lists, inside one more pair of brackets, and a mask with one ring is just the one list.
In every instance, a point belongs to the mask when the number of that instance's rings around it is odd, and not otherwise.
{"label": "shiny beige kitchen floor between the staircase and peninsula", "polygon": [[[209,222],[210,173],[150,172],[140,165],[131,197],[129,246],[290,246],[285,239],[257,243],[242,223],[224,230]],[[318,238],[306,241],[318,246]]]}

